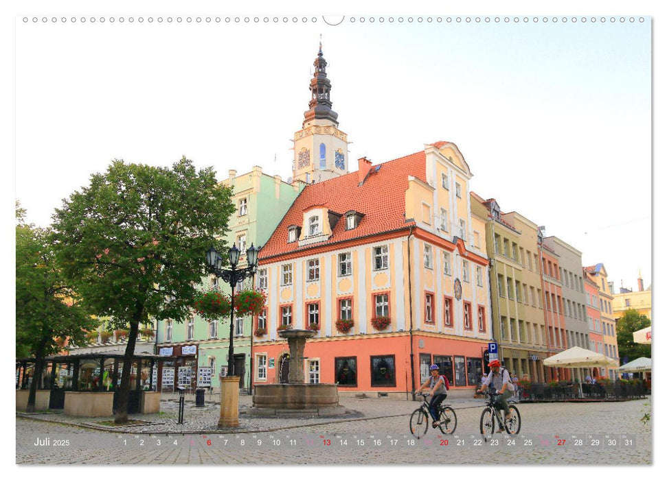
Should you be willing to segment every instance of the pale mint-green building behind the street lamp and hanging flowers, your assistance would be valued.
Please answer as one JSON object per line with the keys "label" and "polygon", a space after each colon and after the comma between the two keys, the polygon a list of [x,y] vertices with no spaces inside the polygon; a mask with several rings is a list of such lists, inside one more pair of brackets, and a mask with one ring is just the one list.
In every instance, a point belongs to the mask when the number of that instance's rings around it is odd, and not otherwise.
{"label": "pale mint-green building behind the street lamp and hanging flowers", "polygon": [[[229,170],[229,178],[221,184],[234,188],[236,213],[229,219],[226,242],[229,247],[235,243],[241,250],[238,267],[243,268],[247,266],[245,250],[251,244],[260,247],[266,243],[305,184],[298,180],[292,184],[286,183],[278,175],[262,173],[261,167],[253,167],[252,171],[240,176],[236,176],[236,170]],[[260,264],[255,276],[256,285],[266,287],[262,285],[265,278]],[[247,279],[243,285],[237,285],[236,290],[250,286],[251,279]],[[201,288],[219,288],[224,293],[231,293],[229,285],[215,276],[203,278]],[[234,370],[240,376],[240,387],[247,387],[251,372],[252,319],[235,318],[234,323]],[[196,388],[200,367],[211,368],[210,387],[214,392],[219,392],[219,376],[227,374],[228,319],[207,322],[199,315],[193,315],[181,324],[173,320],[159,322],[156,344],[159,355],[172,357],[163,363],[158,375],[158,386],[163,392],[171,392],[179,385]]]}

